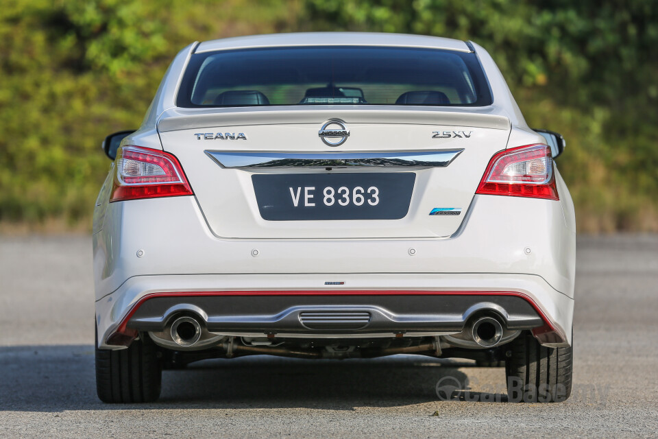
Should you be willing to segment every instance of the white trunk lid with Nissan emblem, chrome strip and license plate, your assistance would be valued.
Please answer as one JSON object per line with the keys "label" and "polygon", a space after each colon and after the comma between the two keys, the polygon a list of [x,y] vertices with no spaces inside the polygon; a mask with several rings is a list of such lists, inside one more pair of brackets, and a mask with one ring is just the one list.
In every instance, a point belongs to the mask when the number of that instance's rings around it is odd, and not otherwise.
{"label": "white trunk lid with Nissan emblem, chrome strip and license plate", "polygon": [[[319,137],[334,119],[350,132],[337,147]],[[449,237],[509,130],[451,108],[175,108],[158,123],[212,233],[234,239]]]}

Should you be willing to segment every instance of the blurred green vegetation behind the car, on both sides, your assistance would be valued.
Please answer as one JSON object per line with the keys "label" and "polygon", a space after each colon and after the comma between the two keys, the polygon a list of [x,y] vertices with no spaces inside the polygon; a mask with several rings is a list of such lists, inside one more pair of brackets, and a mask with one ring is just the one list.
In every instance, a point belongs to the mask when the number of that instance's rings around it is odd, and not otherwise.
{"label": "blurred green vegetation behind the car, on both sides", "polygon": [[474,40],[564,134],[578,230],[658,231],[658,1],[4,0],[0,224],[89,229],[101,140],[141,123],[194,40],[295,31]]}

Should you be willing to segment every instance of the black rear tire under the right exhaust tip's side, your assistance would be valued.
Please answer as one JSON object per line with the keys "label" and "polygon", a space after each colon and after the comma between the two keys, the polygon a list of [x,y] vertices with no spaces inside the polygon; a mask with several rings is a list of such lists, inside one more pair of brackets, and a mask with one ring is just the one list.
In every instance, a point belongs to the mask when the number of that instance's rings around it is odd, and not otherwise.
{"label": "black rear tire under the right exhaust tip's side", "polygon": [[511,402],[561,403],[571,394],[573,348],[541,346],[522,333],[508,346],[505,361],[507,396]]}

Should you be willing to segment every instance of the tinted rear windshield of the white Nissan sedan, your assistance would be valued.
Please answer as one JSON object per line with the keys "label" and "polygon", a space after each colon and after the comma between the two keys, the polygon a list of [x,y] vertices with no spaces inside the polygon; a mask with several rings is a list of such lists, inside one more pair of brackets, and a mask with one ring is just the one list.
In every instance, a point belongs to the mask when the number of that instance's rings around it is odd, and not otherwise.
{"label": "tinted rear windshield of the white Nissan sedan", "polygon": [[275,47],[194,54],[178,106],[486,106],[475,54],[409,47]]}

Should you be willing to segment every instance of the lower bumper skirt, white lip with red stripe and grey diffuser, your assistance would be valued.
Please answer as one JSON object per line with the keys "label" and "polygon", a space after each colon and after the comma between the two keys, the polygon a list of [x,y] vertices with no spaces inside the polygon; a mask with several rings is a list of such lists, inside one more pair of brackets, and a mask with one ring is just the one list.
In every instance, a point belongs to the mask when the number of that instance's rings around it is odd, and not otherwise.
{"label": "lower bumper skirt, white lip with red stripe and grey diffuser", "polygon": [[507,329],[532,329],[542,344],[571,342],[573,300],[538,276],[352,274],[341,275],[344,285],[318,287],[325,278],[136,276],[97,302],[99,347],[121,348],[137,331],[162,331],[182,312],[195,313],[213,333],[309,338],[447,335],[487,312]]}

